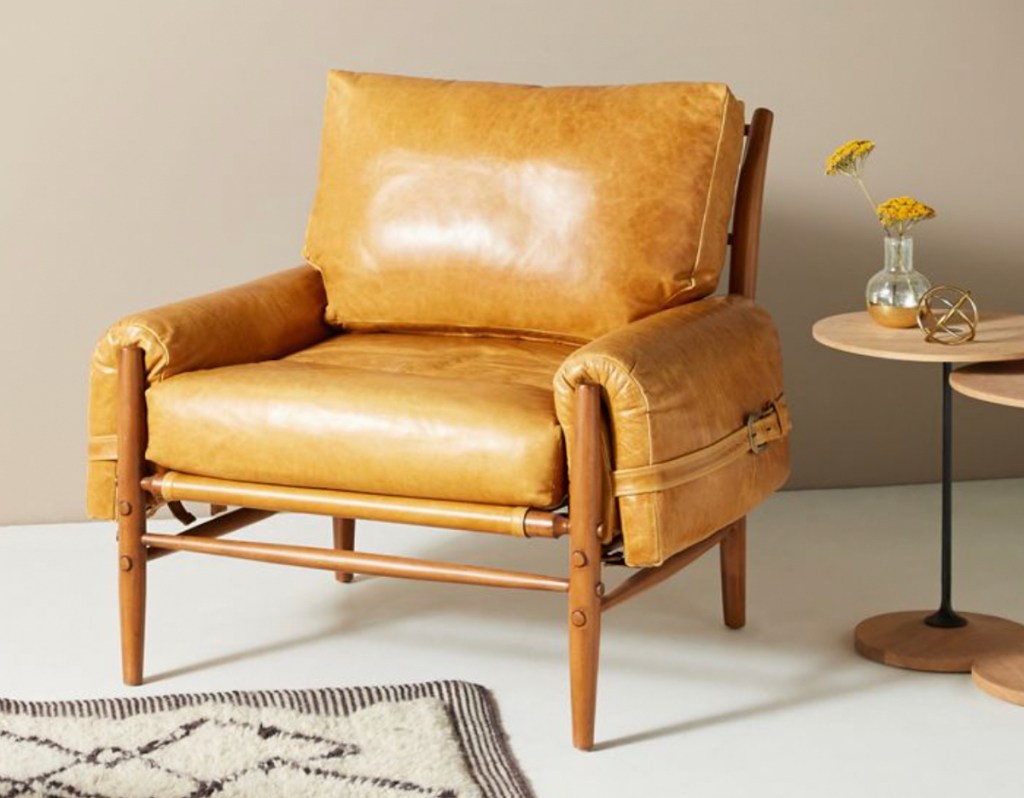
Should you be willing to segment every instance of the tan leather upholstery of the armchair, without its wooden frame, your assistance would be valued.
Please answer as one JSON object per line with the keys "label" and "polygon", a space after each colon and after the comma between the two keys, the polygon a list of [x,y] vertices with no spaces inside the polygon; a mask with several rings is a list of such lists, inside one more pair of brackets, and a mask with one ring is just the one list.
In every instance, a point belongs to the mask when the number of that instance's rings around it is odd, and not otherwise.
{"label": "tan leather upholstery of the armchair, without its wooden frame", "polygon": [[781,486],[784,436],[672,476],[782,394],[767,313],[707,297],[742,149],[725,86],[332,73],[328,88],[305,249],[318,271],[109,331],[91,375],[90,515],[114,514],[127,345],[145,354],[152,465],[305,489],[289,494],[302,507],[325,501],[316,489],[498,505],[517,534],[525,507],[564,497],[584,382],[606,403],[609,497],[613,470],[627,487],[656,475],[608,499],[605,534],[622,530],[629,564],[664,561]]}

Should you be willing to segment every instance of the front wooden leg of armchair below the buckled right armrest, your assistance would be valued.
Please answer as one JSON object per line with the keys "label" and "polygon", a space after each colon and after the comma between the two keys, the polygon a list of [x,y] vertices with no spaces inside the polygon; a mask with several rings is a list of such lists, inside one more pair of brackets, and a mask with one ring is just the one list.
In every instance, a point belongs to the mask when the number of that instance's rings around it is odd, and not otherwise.
{"label": "front wooden leg of armchair below the buckled right armrest", "polygon": [[601,393],[577,391],[569,469],[569,682],[572,745],[594,745],[597,664],[601,642]]}

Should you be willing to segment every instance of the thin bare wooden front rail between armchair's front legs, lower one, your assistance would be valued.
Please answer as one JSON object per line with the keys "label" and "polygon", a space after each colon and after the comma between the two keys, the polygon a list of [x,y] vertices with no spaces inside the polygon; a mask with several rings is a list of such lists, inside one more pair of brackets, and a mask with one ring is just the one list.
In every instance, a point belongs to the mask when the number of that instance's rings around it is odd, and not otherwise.
{"label": "thin bare wooden front rail between armchair's front legs, lower one", "polygon": [[275,562],[282,565],[298,565],[322,571],[373,574],[399,579],[419,579],[426,582],[454,582],[463,585],[550,590],[557,593],[564,593],[568,590],[568,580],[542,574],[524,574],[456,562],[433,562],[426,559],[393,557],[386,554],[336,551],[309,546],[211,540],[194,538],[188,535],[145,535],[142,538],[142,543],[157,549],[193,551],[200,554],[252,559],[259,562]]}

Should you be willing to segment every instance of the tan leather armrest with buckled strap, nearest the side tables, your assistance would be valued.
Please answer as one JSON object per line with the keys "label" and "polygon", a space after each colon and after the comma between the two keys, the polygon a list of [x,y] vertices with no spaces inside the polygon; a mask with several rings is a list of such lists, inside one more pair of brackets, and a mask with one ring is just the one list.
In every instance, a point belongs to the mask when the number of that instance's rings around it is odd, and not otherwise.
{"label": "tan leather armrest with buckled strap, nearest the side tables", "polygon": [[[586,382],[604,392],[630,564],[657,564],[698,542],[788,474],[778,335],[749,299],[711,297],[663,310],[572,352],[555,376],[566,440],[575,388]],[[748,431],[757,456],[745,446]]]}

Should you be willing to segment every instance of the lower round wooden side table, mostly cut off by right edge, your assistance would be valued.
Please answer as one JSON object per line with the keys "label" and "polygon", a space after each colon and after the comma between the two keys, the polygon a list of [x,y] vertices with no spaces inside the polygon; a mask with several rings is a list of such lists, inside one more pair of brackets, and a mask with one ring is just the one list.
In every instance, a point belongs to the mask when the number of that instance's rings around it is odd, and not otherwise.
{"label": "lower round wooden side table, mostly cut off by right edge", "polygon": [[[1024,361],[968,366],[956,371],[949,383],[965,396],[1024,408]],[[1024,634],[1013,642],[1004,653],[976,660],[971,673],[974,683],[985,692],[1024,705]]]}

